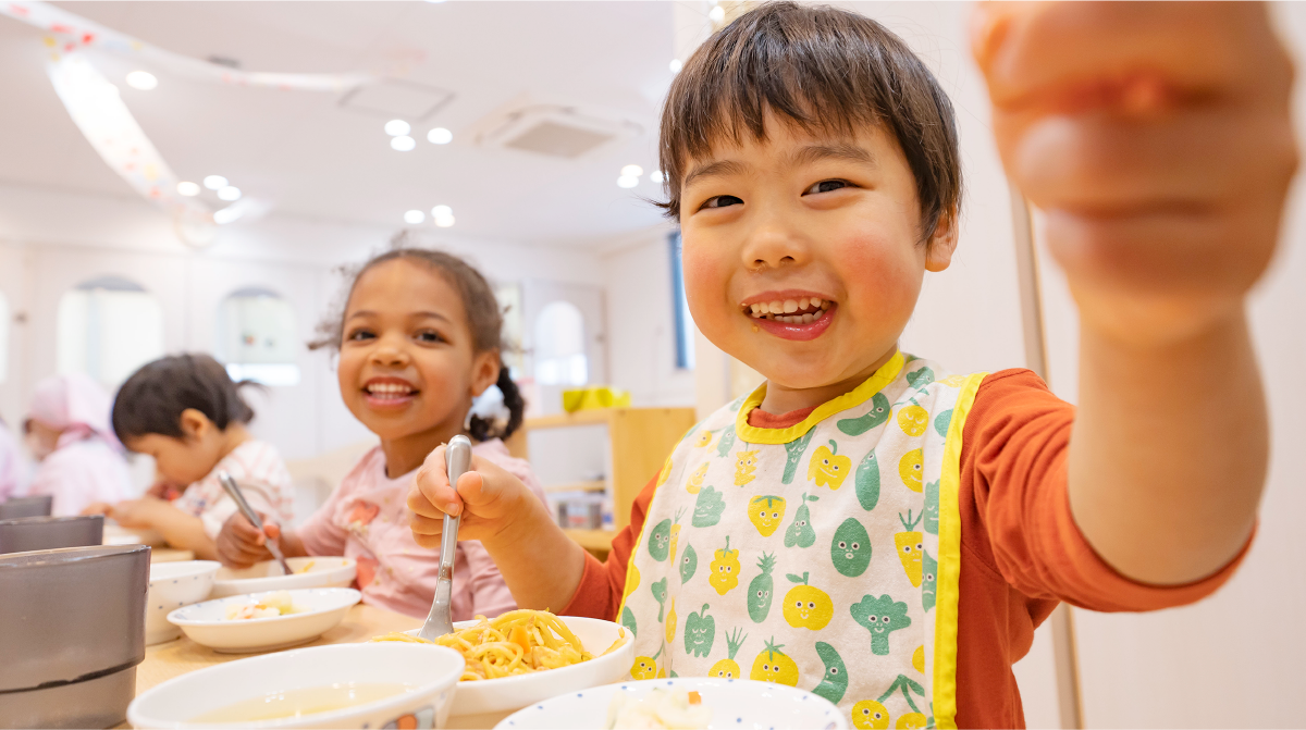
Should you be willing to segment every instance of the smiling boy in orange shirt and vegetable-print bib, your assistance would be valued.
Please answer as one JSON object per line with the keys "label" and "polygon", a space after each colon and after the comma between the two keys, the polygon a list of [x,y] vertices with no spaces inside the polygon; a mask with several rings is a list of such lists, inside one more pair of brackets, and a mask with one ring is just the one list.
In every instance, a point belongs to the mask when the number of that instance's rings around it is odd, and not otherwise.
{"label": "smiling boy in orange shirt and vegetable-print bib", "polygon": [[418,542],[461,512],[521,606],[629,627],[637,678],[738,667],[874,730],[1021,727],[1011,665],[1058,601],[1218,588],[1266,469],[1243,299],[1296,168],[1286,57],[1251,0],[993,1],[974,27],[1080,307],[1077,411],[899,350],[957,246],[951,104],[874,21],[773,3],[695,52],[661,136],[695,323],[767,383],[675,448],[607,564],[494,465],[454,492],[439,451]]}

